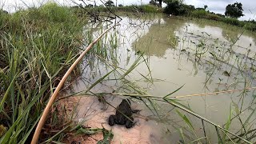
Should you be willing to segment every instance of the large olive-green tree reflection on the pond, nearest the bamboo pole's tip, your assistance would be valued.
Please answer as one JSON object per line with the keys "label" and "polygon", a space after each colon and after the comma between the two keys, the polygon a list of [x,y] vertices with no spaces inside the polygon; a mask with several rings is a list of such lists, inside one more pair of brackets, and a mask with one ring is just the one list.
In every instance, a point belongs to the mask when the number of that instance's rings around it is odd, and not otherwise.
{"label": "large olive-green tree reflection on the pond, nearest the bamboo pole's tip", "polygon": [[134,50],[141,50],[150,56],[162,57],[166,50],[178,45],[174,31],[179,30],[185,22],[178,19],[158,19],[149,27],[149,32],[132,43]]}

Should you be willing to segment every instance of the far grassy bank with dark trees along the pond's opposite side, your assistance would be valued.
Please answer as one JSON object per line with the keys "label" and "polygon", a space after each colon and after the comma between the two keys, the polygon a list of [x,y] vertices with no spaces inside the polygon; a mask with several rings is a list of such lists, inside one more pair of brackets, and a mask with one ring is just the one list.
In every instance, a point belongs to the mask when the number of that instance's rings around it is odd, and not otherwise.
{"label": "far grassy bank with dark trees along the pond's opposite side", "polygon": [[[165,2],[166,7],[162,8],[160,3]],[[238,9],[232,9],[232,6],[237,6]],[[243,16],[242,14],[242,4],[235,2],[234,4],[230,4],[226,6],[226,16],[223,14],[215,14],[214,12],[210,12],[206,10],[208,6],[204,6],[203,8],[195,8],[192,5],[186,5],[178,0],[151,0],[150,4],[148,5],[131,5],[131,6],[122,6],[118,5],[115,6],[114,2],[107,1],[104,5],[101,6],[94,6],[94,5],[86,5],[86,6],[74,6],[77,10],[86,9],[90,11],[109,11],[112,10],[113,12],[142,12],[142,13],[164,13],[164,14],[171,14],[175,16],[185,16],[190,18],[204,18],[210,19],[218,22],[225,22],[227,24],[233,26],[244,27],[246,30],[256,30],[256,22],[252,21],[239,21],[238,18]],[[231,8],[230,8],[231,7]],[[80,8],[80,9],[79,9]],[[238,10],[238,11],[227,11],[227,10]],[[81,12],[81,11],[80,11]]]}

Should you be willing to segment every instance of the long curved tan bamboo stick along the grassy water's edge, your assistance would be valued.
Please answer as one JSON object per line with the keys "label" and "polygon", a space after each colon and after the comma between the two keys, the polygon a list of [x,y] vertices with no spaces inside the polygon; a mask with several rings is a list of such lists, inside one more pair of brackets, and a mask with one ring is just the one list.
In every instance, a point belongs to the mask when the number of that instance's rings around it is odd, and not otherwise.
{"label": "long curved tan bamboo stick along the grassy water's edge", "polygon": [[50,100],[47,103],[46,108],[45,108],[45,110],[42,113],[42,117],[40,118],[40,120],[38,122],[38,126],[37,126],[36,130],[34,131],[34,136],[33,136],[33,139],[31,141],[31,144],[38,143],[39,134],[41,133],[42,126],[46,122],[46,118],[47,118],[47,116],[49,114],[50,107],[53,105],[55,99],[57,98],[58,92],[61,90],[62,86],[64,85],[64,82],[66,81],[66,78],[68,78],[68,76],[71,74],[72,70],[74,70],[74,67],[78,65],[78,63],[82,60],[82,58],[86,55],[86,53],[90,50],[90,48],[92,48],[92,46],[94,46],[94,44],[96,42],[98,42],[98,40],[100,40],[100,38],[102,38],[102,36],[104,34],[106,34],[106,32],[108,32],[110,29],[112,29],[115,26],[118,26],[118,24],[116,24],[114,26],[111,26],[109,29],[107,29],[105,32],[103,32],[100,36],[98,36],[98,38],[96,38],[94,40],[94,42],[91,42],[90,45],[86,47],[86,50],[84,50],[82,52],[82,54],[80,54],[80,56],[70,66],[69,70],[66,71],[66,74],[62,77],[61,82],[58,83],[58,86],[56,87],[56,90],[54,90],[54,94],[52,94],[52,96],[50,97]]}

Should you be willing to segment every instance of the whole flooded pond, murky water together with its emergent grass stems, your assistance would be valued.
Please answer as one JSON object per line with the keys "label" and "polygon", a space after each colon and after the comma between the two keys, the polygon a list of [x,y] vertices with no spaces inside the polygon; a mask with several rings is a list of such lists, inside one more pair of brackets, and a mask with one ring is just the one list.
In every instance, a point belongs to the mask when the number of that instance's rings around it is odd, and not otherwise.
{"label": "whole flooded pond, murky water together with its emergent grass stems", "polygon": [[[108,24],[85,26],[85,34],[95,38]],[[255,38],[212,21],[122,17],[81,65],[76,120],[112,130],[114,143],[255,142]],[[109,126],[127,96],[141,110],[135,126]]]}

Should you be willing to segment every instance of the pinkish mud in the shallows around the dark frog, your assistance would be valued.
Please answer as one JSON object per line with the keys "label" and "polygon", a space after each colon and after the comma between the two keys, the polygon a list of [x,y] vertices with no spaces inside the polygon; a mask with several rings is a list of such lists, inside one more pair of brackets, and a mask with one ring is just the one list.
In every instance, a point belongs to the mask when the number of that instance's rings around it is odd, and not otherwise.
{"label": "pinkish mud in the shallows around the dark frog", "polygon": [[[109,97],[106,98],[106,101],[116,107],[122,102],[122,98]],[[132,109],[142,110],[142,107],[138,106],[136,102],[132,102],[131,107]],[[158,122],[147,118],[146,110],[133,115],[136,124],[130,129],[120,125],[109,126],[107,120],[110,114],[115,114],[114,107],[99,102],[98,98],[80,97],[75,121],[84,121],[83,125],[86,127],[112,130],[114,138],[111,143],[165,143],[161,138],[161,132],[159,131],[161,129],[155,129],[155,127],[158,127]],[[91,138],[88,136],[84,138],[78,136],[76,141],[96,143],[102,139],[100,135],[102,134],[96,134]]]}

